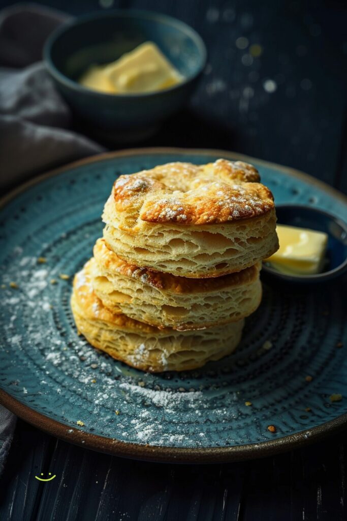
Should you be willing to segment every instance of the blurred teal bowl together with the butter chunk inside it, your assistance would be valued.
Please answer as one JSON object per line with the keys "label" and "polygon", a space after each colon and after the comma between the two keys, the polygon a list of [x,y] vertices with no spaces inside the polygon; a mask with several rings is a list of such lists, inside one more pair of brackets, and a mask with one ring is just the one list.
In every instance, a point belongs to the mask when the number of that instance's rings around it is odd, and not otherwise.
{"label": "blurred teal bowl together with the butter chunk inside it", "polygon": [[149,138],[189,100],[206,49],[180,20],[115,9],[56,29],[44,60],[84,132],[106,145],[128,144]]}

